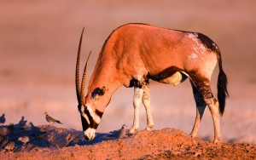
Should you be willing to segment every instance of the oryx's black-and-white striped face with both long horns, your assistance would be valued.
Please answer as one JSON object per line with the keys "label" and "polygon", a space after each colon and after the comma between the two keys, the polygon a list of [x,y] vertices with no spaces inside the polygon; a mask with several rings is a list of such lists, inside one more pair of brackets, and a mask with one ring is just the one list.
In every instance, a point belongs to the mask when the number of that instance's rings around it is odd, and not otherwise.
{"label": "oryx's black-and-white striped face with both long horns", "polygon": [[85,100],[84,89],[85,89],[85,80],[86,80],[86,73],[87,73],[87,67],[90,59],[90,54],[84,66],[84,74],[82,77],[81,88],[79,86],[79,61],[80,61],[80,50],[81,50],[81,44],[83,39],[83,33],[84,33],[84,29],[80,37],[79,51],[77,56],[76,76],[75,76],[76,93],[77,93],[77,99],[79,102],[78,107],[79,107],[79,112],[80,112],[81,121],[83,125],[84,139],[93,140],[95,138],[96,128],[98,127],[98,124],[100,123],[100,120],[102,117],[102,112],[94,109],[94,107],[90,106],[89,103],[86,103],[86,100]]}

